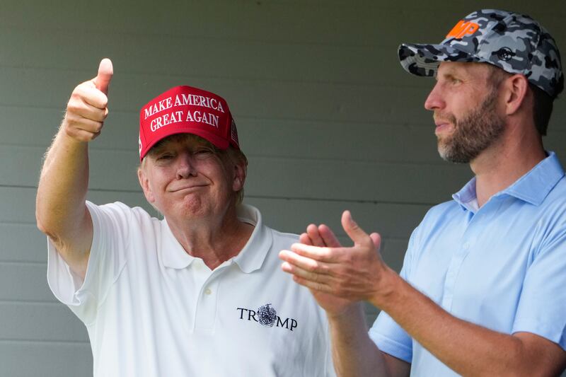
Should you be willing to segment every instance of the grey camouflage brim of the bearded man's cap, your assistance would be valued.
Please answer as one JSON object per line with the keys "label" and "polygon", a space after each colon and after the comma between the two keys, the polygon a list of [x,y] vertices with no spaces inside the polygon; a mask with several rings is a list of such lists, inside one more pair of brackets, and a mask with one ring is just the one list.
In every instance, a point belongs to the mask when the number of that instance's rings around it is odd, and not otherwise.
{"label": "grey camouflage brim of the bearded man's cap", "polygon": [[441,62],[481,62],[448,45],[416,45],[403,43],[399,46],[399,60],[405,71],[417,76],[434,76]]}

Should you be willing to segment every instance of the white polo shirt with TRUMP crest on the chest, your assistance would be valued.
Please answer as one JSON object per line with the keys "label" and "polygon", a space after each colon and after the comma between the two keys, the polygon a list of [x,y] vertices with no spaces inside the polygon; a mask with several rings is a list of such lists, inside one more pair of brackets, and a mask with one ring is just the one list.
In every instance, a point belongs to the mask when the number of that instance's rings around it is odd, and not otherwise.
{"label": "white polo shirt with TRUMP crest on the chest", "polygon": [[[167,222],[87,202],[94,235],[84,282],[49,243],[47,280],[85,323],[94,376],[335,376],[325,313],[281,271],[295,235],[262,225],[216,269],[191,257]],[[221,235],[219,235],[221,236]]]}

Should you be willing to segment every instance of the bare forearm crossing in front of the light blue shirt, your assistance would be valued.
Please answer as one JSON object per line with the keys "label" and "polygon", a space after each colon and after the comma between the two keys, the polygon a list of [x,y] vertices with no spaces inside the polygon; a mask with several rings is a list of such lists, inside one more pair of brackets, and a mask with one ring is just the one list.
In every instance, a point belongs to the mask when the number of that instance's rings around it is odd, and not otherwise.
{"label": "bare forearm crossing in front of the light blue shirt", "polygon": [[[392,293],[371,302],[457,373],[465,376],[545,375],[541,361],[548,352],[537,355],[541,348],[526,347],[536,344],[526,342],[537,338],[536,335],[507,335],[456,318],[395,276]],[[558,345],[556,347],[560,352]]]}

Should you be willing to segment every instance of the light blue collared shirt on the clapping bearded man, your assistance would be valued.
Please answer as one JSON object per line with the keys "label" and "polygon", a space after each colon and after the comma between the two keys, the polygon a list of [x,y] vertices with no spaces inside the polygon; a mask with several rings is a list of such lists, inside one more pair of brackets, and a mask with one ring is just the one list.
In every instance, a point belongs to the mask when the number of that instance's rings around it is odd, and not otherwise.
{"label": "light blue collared shirt on the clapping bearded man", "polygon": [[[478,209],[475,178],[413,231],[401,277],[451,315],[566,349],[566,178],[555,153]],[[381,312],[369,331],[412,376],[457,376]]]}

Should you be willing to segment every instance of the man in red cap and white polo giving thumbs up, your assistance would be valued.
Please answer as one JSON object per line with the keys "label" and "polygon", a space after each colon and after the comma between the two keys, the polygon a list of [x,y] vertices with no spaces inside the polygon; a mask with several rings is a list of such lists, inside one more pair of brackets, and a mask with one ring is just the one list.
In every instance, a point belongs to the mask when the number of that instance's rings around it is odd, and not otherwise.
{"label": "man in red cap and white polo giving thumbs up", "polygon": [[95,376],[333,376],[328,323],[279,269],[296,236],[240,204],[246,180],[226,101],[171,88],[140,112],[139,183],[163,220],[86,201],[88,143],[112,64],[77,86],[37,190],[48,280],[85,323]]}

